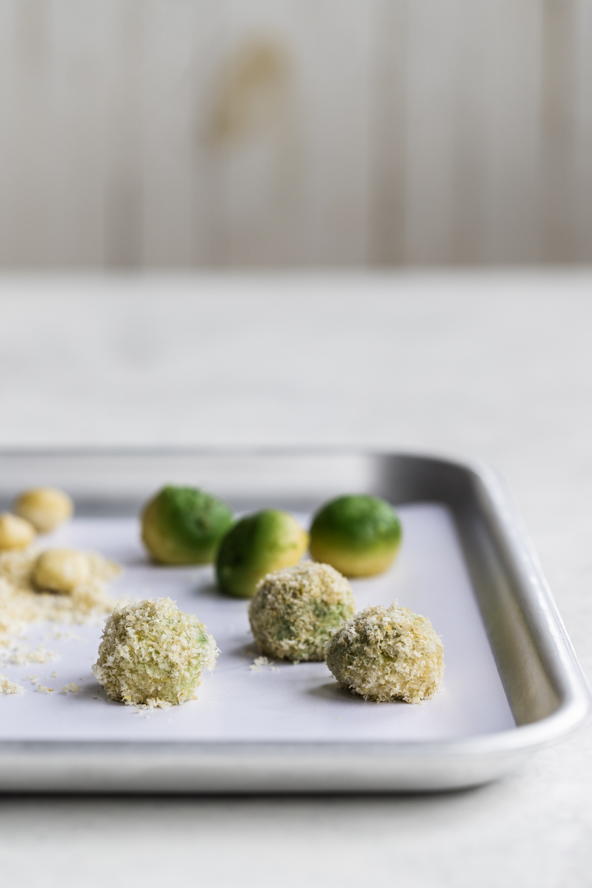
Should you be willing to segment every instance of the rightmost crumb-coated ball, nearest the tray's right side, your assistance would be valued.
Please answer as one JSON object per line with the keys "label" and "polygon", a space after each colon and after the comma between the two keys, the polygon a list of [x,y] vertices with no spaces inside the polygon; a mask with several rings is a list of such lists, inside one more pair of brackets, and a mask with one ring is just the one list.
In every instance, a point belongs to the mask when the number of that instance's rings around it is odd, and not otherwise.
{"label": "rightmost crumb-coated ball, nearest the tray's right side", "polygon": [[327,665],[365,700],[421,703],[440,689],[442,642],[430,620],[407,607],[367,607],[335,632]]}

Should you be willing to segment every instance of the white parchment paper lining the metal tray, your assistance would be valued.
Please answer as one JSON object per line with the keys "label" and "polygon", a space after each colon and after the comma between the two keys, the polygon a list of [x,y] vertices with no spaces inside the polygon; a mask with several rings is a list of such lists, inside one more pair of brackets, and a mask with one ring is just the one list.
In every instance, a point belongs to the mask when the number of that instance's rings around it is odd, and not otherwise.
{"label": "white parchment paper lining the metal tray", "polygon": [[[125,568],[113,584],[115,595],[170,596],[197,614],[221,649],[217,669],[206,673],[197,701],[138,712],[108,701],[91,674],[100,626],[34,625],[27,643],[43,642],[59,660],[2,669],[26,692],[0,694],[0,740],[426,741],[514,727],[452,517],[433,503],[402,506],[399,514],[405,538],[394,566],[352,586],[359,608],[398,599],[430,617],[446,662],[444,689],[433,700],[422,706],[365,702],[339,688],[324,663],[249,669],[258,655],[249,603],[217,591],[212,567],[154,567],[139,542],[137,520],[75,519],[44,545],[99,551]],[[58,678],[51,678],[53,671]],[[36,692],[23,680],[32,674],[54,692]],[[68,682],[81,691],[59,694]]]}

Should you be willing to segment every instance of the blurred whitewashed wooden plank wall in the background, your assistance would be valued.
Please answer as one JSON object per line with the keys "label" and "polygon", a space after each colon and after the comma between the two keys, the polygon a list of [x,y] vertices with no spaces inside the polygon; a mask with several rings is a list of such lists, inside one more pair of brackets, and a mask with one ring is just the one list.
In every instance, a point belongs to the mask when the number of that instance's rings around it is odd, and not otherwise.
{"label": "blurred whitewashed wooden plank wall in the background", "polygon": [[0,266],[592,260],[592,0],[0,0]]}

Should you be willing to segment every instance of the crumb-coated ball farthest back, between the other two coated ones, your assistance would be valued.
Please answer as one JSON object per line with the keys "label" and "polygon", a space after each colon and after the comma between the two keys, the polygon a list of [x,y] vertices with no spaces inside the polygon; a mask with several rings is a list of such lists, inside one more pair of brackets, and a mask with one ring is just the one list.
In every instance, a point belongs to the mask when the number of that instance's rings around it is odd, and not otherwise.
{"label": "crumb-coated ball farthest back, between the other two coated ones", "polygon": [[325,642],[355,609],[345,577],[328,564],[304,561],[264,577],[249,621],[264,654],[294,662],[324,660]]}

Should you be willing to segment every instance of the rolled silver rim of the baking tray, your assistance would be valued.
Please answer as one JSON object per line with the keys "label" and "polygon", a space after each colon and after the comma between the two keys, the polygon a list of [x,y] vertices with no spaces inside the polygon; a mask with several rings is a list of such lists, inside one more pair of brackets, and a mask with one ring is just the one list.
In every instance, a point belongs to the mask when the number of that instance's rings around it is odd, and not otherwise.
{"label": "rolled silver rim of the baking tray", "polygon": [[[471,735],[470,737],[439,740],[439,741],[225,741],[212,743],[209,741],[0,741],[0,771],[3,763],[8,764],[22,759],[23,764],[31,759],[42,760],[46,764],[64,755],[77,757],[88,752],[103,752],[107,759],[128,757],[130,754],[146,757],[152,753],[164,755],[170,752],[172,759],[190,756],[193,759],[207,759],[212,755],[218,757],[245,758],[260,755],[279,756],[289,759],[307,750],[312,756],[344,757],[353,755],[367,758],[377,755],[401,761],[414,759],[429,761],[434,758],[471,759],[479,757],[522,758],[536,749],[561,741],[580,729],[590,718],[592,693],[588,679],[580,666],[577,654],[567,634],[564,622],[556,607],[555,599],[542,571],[538,555],[528,535],[525,522],[517,509],[517,504],[508,485],[501,475],[485,462],[475,458],[452,456],[441,451],[414,449],[378,449],[353,447],[56,447],[56,448],[0,448],[0,464],[4,458],[109,458],[109,457],[149,457],[174,458],[187,457],[306,457],[306,456],[358,456],[367,458],[388,459],[389,457],[411,457],[419,460],[446,464],[469,472],[478,480],[492,508],[493,519],[497,524],[497,532],[508,546],[511,558],[520,572],[522,583],[529,591],[533,603],[537,605],[536,618],[543,630],[547,658],[555,664],[556,679],[561,687],[560,702],[557,709],[549,716],[527,725],[494,733]],[[166,758],[166,756],[164,756]],[[499,768],[499,774],[485,779],[494,779],[504,773],[507,768]],[[473,785],[483,781],[470,781],[469,784],[456,781],[450,787]],[[0,791],[4,781],[0,777]],[[110,791],[107,789],[107,791]],[[192,790],[193,791],[193,790]],[[215,790],[216,791],[216,790]],[[221,791],[229,791],[222,789]],[[267,791],[267,790],[266,790]],[[280,791],[283,789],[280,787]]]}

